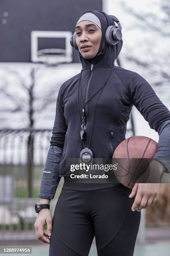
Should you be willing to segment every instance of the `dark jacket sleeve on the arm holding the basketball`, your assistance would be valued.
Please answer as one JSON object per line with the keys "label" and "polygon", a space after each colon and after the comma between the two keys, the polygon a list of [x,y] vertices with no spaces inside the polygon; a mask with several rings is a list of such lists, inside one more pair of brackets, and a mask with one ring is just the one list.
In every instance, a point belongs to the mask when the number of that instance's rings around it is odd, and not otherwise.
{"label": "dark jacket sleeve on the arm holding the basketball", "polygon": [[[156,95],[151,85],[139,74],[135,74],[128,84],[127,94],[131,103],[148,121],[150,128],[158,132],[158,148],[153,159],[162,162],[166,167],[165,172],[170,172],[170,131],[168,125],[170,111]],[[166,143],[165,136],[167,136]]]}

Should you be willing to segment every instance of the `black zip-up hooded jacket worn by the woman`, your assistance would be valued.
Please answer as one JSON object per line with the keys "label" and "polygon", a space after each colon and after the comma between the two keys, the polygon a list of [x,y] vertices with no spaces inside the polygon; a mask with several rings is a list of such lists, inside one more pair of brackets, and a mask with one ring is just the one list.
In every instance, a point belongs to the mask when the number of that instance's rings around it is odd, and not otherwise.
{"label": "black zip-up hooded jacket worn by the woman", "polygon": [[[53,198],[60,180],[58,177],[66,174],[66,159],[80,157],[80,151],[83,148],[80,138],[82,117],[80,88],[83,104],[90,99],[85,106],[86,146],[89,144],[92,128],[89,148],[94,158],[111,158],[115,148],[125,140],[127,122],[133,105],[148,121],[150,128],[156,132],[163,122],[170,120],[170,111],[140,74],[115,66],[115,59],[122,48],[122,40],[115,46],[109,46],[105,41],[105,30],[107,26],[114,25],[114,22],[107,14],[105,14],[106,19],[102,12],[92,12],[97,15],[102,25],[100,48],[92,60],[85,59],[80,54],[81,72],[60,87],[50,141],[51,146],[61,149],[60,152],[55,151],[55,153],[58,152],[60,160],[57,161],[57,169],[53,169],[53,177],[50,173],[43,173],[47,176],[46,184],[52,184],[52,197],[45,193],[46,189],[43,191],[43,184],[41,184],[39,197]],[[56,157],[55,154],[54,157]],[[161,161],[168,172],[170,164],[163,158],[164,156],[155,155],[155,159]],[[87,185],[90,186],[90,184]],[[96,184],[96,187],[97,185],[98,188],[102,188],[113,184]]]}

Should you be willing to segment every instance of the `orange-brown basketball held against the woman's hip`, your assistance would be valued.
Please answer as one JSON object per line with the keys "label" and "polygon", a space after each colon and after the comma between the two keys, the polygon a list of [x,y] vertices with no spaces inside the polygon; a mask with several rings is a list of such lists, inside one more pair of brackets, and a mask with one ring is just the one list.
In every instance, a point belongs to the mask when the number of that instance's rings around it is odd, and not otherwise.
{"label": "orange-brown basketball held against the woman's hip", "polygon": [[116,178],[130,189],[142,174],[147,180],[149,173],[146,170],[157,146],[156,141],[145,136],[133,136],[122,141],[112,156],[112,161],[117,164],[114,170]]}

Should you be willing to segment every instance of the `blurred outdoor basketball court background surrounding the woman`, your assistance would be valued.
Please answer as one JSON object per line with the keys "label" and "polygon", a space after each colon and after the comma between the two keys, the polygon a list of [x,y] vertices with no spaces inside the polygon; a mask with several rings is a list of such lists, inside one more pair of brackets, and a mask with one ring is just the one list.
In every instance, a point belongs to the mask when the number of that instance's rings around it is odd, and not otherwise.
{"label": "blurred outdoor basketball court background surrounding the woman", "polygon": [[[169,0],[1,0],[0,246],[30,246],[32,255],[48,255],[49,245],[35,236],[34,205],[59,88],[82,68],[70,36],[86,10],[120,20],[123,46],[115,65],[142,75],[170,109]],[[135,135],[159,138],[133,106],[126,138]],[[52,214],[62,184],[50,202]],[[160,185],[158,200],[141,216],[134,255],[169,255],[170,183]],[[89,255],[97,256],[95,239]]]}

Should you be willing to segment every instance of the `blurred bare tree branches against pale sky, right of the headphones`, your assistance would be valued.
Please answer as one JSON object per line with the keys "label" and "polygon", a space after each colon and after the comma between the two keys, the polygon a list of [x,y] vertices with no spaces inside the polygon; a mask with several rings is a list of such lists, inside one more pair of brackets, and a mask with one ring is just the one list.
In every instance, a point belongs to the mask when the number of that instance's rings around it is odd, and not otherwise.
{"label": "blurred bare tree branches against pale sky, right of the headphones", "polygon": [[[141,11],[140,8],[136,11],[128,4],[127,1],[120,0],[122,8],[130,17],[133,16],[135,19],[135,22],[133,20],[133,26],[127,25],[127,29],[129,31],[135,31],[136,29],[141,31],[143,42],[141,45],[133,44],[132,48],[128,49],[125,59],[143,68],[145,73],[148,72],[148,75],[153,78],[153,86],[160,86],[161,88],[161,85],[164,85],[168,87],[170,84],[168,67],[170,59],[168,47],[168,40],[170,39],[170,1],[153,0],[151,5],[153,8],[146,8],[145,12]],[[146,34],[148,34],[147,40]],[[140,55],[135,56],[133,54],[134,49],[140,48],[142,45],[146,47],[146,52],[140,52]],[[161,46],[159,47],[160,52],[157,49],[158,45]],[[156,53],[155,50],[157,50]],[[146,56],[146,58],[143,59],[143,56]]]}

